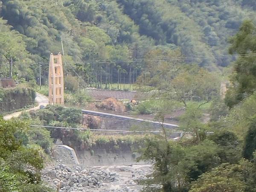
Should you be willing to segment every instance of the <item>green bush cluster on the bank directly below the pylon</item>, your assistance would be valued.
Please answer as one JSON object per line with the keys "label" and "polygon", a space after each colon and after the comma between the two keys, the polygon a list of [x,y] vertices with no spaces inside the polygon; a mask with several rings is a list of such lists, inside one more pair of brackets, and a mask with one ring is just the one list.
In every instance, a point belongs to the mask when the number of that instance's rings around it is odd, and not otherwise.
{"label": "green bush cluster on the bank directly below the pylon", "polygon": [[[46,125],[54,127],[81,128],[83,123],[83,114],[76,108],[64,108],[58,105],[48,105],[46,108],[23,113],[21,119],[33,122],[36,125]],[[33,119],[33,120],[32,120]],[[53,140],[62,140],[76,149],[82,149],[91,145],[90,131],[80,131],[75,129],[61,128],[38,128],[30,130],[30,140],[40,145],[44,151],[49,154]]]}

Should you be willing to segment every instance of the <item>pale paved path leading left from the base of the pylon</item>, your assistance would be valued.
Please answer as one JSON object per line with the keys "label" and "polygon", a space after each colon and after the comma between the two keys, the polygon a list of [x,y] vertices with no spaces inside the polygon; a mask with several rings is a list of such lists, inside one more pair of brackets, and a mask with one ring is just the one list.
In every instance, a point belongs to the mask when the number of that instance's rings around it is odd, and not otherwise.
{"label": "pale paved path leading left from the base of the pylon", "polygon": [[32,110],[36,111],[36,110],[38,110],[40,108],[40,105],[46,106],[46,105],[49,104],[49,100],[48,100],[47,96],[44,96],[44,95],[42,95],[40,93],[36,93],[35,102],[38,103],[38,106],[36,106],[34,108],[30,108],[30,109],[24,110],[24,111],[18,111],[18,112],[15,112],[15,113],[11,113],[9,115],[4,116],[3,119],[5,119],[5,120],[12,119],[12,117],[20,116],[20,114],[22,112],[29,112],[29,111],[32,111]]}

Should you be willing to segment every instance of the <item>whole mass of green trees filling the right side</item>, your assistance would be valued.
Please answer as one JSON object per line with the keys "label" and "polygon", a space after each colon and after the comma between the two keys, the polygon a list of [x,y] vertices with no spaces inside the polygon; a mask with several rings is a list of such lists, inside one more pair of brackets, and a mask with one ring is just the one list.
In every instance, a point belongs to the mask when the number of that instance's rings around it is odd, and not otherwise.
{"label": "whole mass of green trees filling the right side", "polygon": [[[231,38],[230,51],[241,55],[255,52],[254,31],[254,24],[245,21],[237,35]],[[214,73],[189,67],[189,70],[175,74],[170,80],[171,85],[165,86],[164,90],[172,93],[174,89],[175,94],[179,94],[175,100],[186,106],[180,116],[180,129],[185,131],[185,136],[190,134],[178,142],[171,142],[163,128],[165,140],[147,141],[139,160],[152,160],[154,172],[148,180],[142,181],[144,191],[256,190],[255,61],[255,56],[241,56],[235,61],[232,84],[225,100],[220,99],[216,86],[218,78]],[[157,86],[168,84],[166,81],[169,80],[159,81]],[[187,102],[190,97],[183,96],[190,91],[196,96],[208,95],[208,99],[205,102]],[[212,105],[201,108],[208,102]],[[210,113],[211,118],[203,123],[205,112]],[[163,118],[164,114],[159,112],[157,116]],[[214,133],[207,134],[209,131]],[[160,184],[161,189],[154,188],[152,184]]]}

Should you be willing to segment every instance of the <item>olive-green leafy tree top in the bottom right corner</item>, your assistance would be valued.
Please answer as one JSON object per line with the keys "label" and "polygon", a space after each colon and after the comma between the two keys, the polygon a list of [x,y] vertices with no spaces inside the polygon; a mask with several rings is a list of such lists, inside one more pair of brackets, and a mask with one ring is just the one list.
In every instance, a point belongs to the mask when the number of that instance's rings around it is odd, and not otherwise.
{"label": "olive-green leafy tree top in the bottom right corner", "polygon": [[221,164],[192,182],[189,192],[255,191],[255,158],[254,152],[253,162],[242,159],[236,164]]}

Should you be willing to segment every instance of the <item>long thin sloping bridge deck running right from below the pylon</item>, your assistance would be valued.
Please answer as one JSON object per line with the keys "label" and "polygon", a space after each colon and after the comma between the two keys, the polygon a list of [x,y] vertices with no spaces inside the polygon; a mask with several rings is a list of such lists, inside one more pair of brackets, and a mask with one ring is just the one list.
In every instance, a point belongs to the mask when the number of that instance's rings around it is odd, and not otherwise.
{"label": "long thin sloping bridge deck running right from below the pylon", "polygon": [[[94,115],[94,116],[114,117],[114,118],[119,118],[119,119],[129,119],[129,120],[134,120],[134,121],[139,121],[139,122],[149,122],[149,123],[155,124],[155,125],[162,125],[162,122],[152,121],[152,120],[148,120],[148,119],[140,119],[140,118],[135,118],[135,117],[130,117],[130,116],[116,115],[113,113],[104,113],[104,112],[90,111],[90,110],[85,110],[85,109],[83,109],[82,112],[85,114]],[[179,127],[179,125],[166,123],[166,122],[164,122],[163,125],[165,127],[172,127],[172,128]]]}

